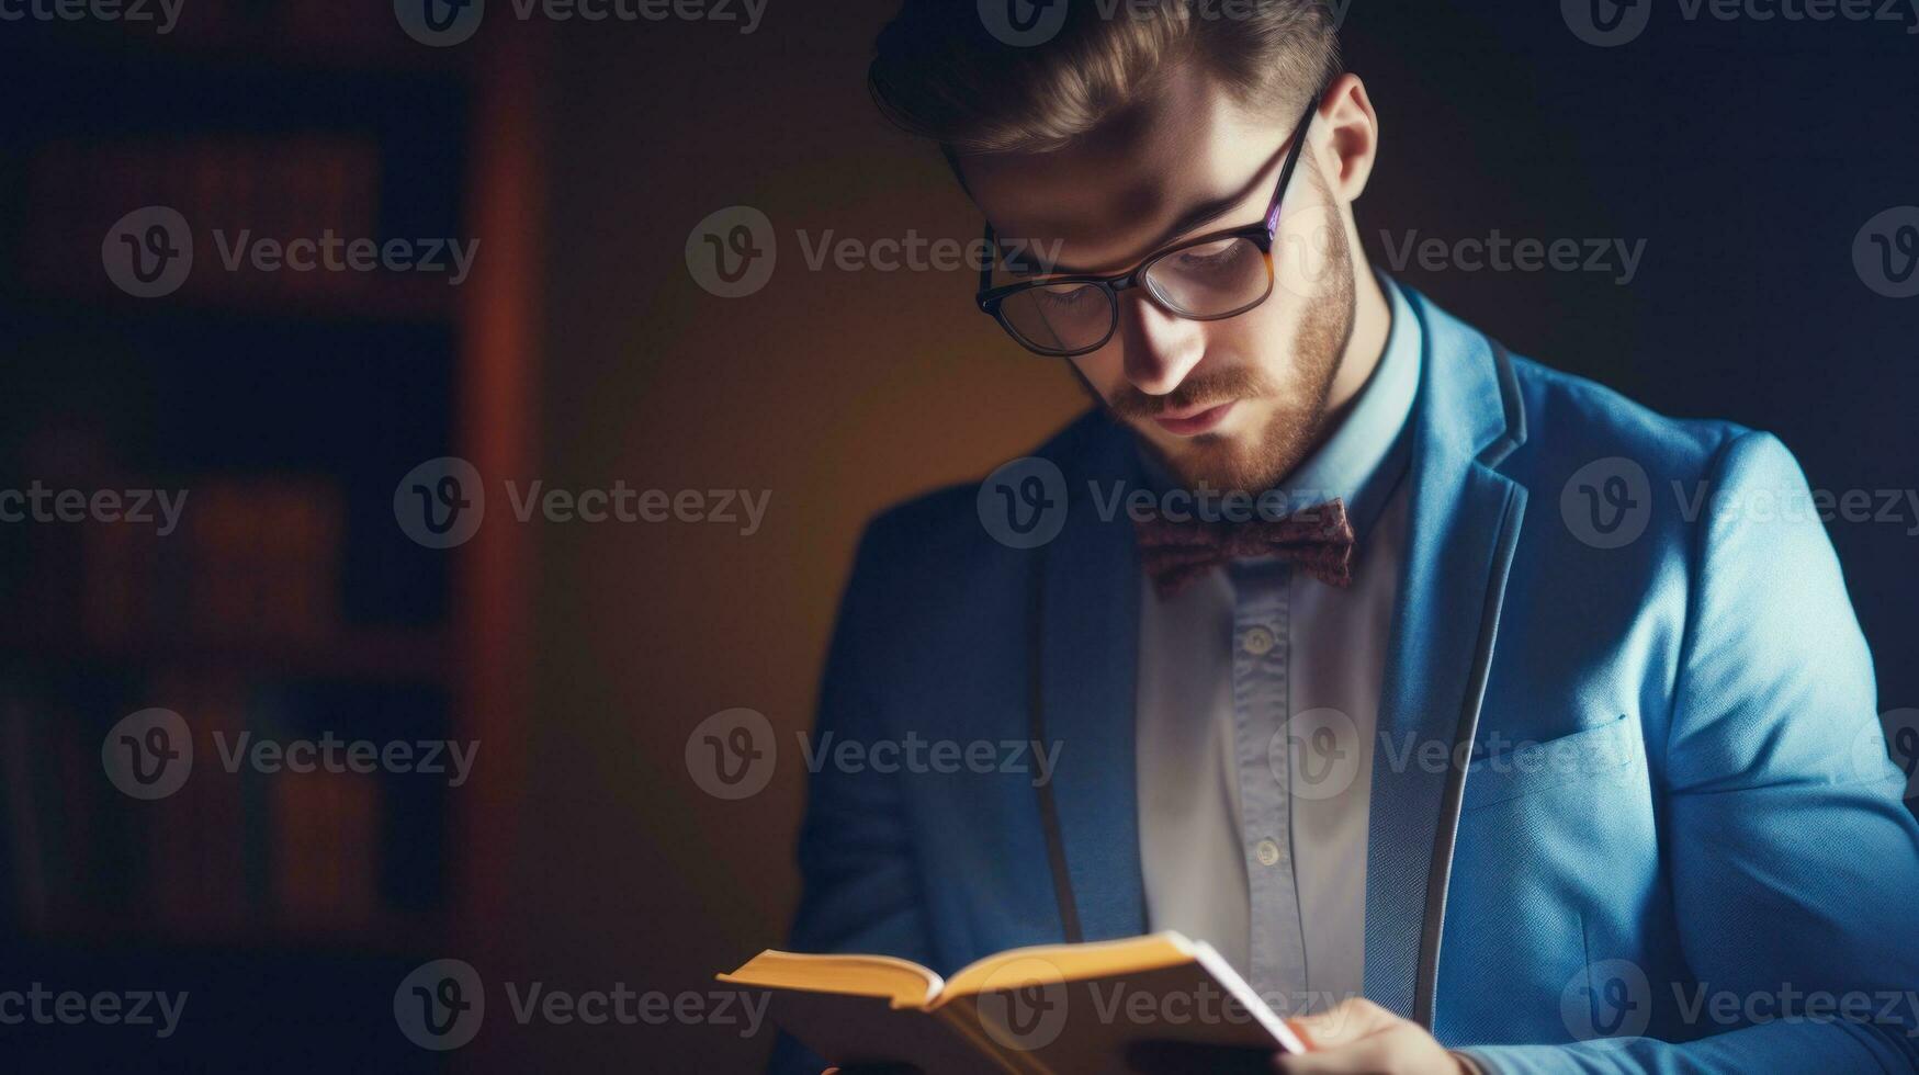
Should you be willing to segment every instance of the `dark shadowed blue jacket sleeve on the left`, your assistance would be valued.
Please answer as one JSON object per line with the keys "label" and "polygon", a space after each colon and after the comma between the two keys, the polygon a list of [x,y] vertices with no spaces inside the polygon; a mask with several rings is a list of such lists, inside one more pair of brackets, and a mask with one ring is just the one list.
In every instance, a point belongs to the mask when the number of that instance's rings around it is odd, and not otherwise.
{"label": "dark shadowed blue jacket sleeve on the left", "polygon": [[[814,756],[833,743],[892,739],[875,703],[873,676],[887,660],[875,641],[896,626],[902,593],[896,580],[913,570],[900,555],[908,543],[888,538],[898,514],[867,528],[841,601],[814,726]],[[831,760],[808,781],[800,825],[800,910],[789,948],[798,952],[869,952],[933,964],[925,902],[913,870],[912,833],[898,777],[871,766],[839,770]],[[825,1065],[791,1037],[773,1050],[771,1071],[817,1073]]]}

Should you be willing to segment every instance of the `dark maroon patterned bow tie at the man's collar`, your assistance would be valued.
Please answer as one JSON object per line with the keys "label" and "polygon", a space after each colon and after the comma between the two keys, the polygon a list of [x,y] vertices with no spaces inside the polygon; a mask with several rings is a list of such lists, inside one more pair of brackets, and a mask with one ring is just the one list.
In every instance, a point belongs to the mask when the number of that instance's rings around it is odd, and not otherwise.
{"label": "dark maroon patterned bow tie at the man's collar", "polygon": [[1345,501],[1299,509],[1286,518],[1245,522],[1134,522],[1140,562],[1159,597],[1173,597],[1196,578],[1247,557],[1280,557],[1326,585],[1353,584],[1353,524]]}

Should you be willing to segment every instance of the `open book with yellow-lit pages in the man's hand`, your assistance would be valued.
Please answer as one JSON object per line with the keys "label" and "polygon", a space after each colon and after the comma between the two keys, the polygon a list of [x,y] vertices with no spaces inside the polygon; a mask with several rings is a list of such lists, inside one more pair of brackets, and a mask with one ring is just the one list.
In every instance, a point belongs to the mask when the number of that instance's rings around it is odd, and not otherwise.
{"label": "open book with yellow-lit pages in the man's hand", "polygon": [[831,1063],[956,1073],[1125,1071],[1128,1046],[1305,1052],[1209,944],[1178,933],[1013,948],[952,979],[890,956],[766,950],[720,981]]}

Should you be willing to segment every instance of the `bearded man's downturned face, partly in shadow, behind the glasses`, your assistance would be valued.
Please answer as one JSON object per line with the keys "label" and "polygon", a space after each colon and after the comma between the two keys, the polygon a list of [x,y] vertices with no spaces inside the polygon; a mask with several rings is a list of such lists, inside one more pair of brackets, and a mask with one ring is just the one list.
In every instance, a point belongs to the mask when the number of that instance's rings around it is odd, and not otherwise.
{"label": "bearded man's downturned face, partly in shadow, behind the glasses", "polygon": [[[1174,240],[1259,223],[1297,119],[1291,106],[1253,115],[1182,65],[1159,94],[1063,150],[960,167],[998,234],[1059,244],[1059,271],[1123,273]],[[1186,486],[1267,490],[1324,426],[1353,326],[1353,259],[1311,142],[1272,263],[1272,296],[1226,321],[1176,317],[1146,288],[1121,292],[1113,338],[1069,359]]]}

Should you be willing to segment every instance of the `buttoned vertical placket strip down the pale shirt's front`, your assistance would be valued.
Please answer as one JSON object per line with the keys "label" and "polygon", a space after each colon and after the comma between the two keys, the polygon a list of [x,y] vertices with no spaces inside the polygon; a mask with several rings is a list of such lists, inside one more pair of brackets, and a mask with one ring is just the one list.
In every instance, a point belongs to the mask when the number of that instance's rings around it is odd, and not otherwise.
{"label": "buttoned vertical placket strip down the pale shirt's front", "polygon": [[1305,933],[1293,873],[1291,764],[1286,722],[1291,683],[1291,570],[1284,562],[1232,568],[1232,708],[1240,777],[1240,847],[1249,889],[1251,987],[1297,1012]]}

